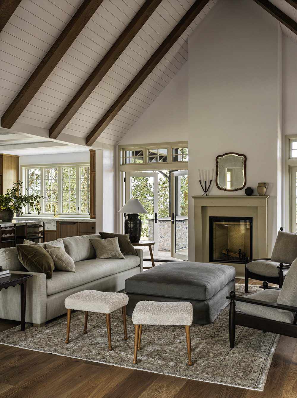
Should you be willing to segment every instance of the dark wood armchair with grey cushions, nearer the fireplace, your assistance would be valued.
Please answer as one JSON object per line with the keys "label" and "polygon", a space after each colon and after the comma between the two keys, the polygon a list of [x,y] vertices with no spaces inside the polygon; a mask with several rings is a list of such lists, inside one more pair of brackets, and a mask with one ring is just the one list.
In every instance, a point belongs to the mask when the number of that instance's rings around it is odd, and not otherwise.
{"label": "dark wood armchair with grey cushions, nearer the fireplace", "polygon": [[287,271],[297,256],[297,235],[283,231],[284,228],[280,228],[271,258],[245,258],[245,293],[249,289],[249,278],[282,287]]}

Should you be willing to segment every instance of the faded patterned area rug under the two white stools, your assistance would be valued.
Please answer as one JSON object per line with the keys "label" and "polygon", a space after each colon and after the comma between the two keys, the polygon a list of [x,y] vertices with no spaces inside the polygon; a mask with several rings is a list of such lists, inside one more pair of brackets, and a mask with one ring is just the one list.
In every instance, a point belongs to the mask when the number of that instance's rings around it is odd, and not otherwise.
{"label": "faded patterned area rug under the two white stools", "polygon": [[[249,286],[249,291],[258,291]],[[243,295],[244,285],[236,285]],[[122,310],[111,314],[112,346],[108,351],[104,314],[89,313],[88,334],[83,334],[84,313],[73,311],[70,342],[65,344],[67,316],[42,328],[26,324],[0,333],[0,343],[25,349],[64,355],[211,383],[263,391],[279,336],[259,330],[236,327],[235,347],[229,348],[228,308],[210,325],[191,327],[193,366],[187,366],[185,328],[182,326],[143,326],[138,363],[133,365],[134,326],[127,317],[128,340],[123,340]]]}

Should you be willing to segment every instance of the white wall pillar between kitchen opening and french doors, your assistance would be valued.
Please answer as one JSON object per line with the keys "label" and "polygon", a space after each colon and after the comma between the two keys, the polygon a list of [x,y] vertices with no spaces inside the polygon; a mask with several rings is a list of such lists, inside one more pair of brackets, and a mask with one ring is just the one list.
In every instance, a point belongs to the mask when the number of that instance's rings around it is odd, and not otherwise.
{"label": "white wall pillar between kitchen opening and french doors", "polygon": [[114,232],[116,220],[116,148],[96,150],[96,232]]}

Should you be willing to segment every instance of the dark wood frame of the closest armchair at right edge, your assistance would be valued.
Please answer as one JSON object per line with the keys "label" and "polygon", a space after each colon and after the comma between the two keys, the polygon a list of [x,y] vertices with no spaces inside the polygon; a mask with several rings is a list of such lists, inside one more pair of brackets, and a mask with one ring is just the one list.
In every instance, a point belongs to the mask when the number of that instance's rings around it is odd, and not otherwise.
{"label": "dark wood frame of the closest armchair at right edge", "polygon": [[[260,288],[264,289],[264,291],[268,290],[268,289],[281,290],[279,287],[268,286],[267,281],[264,281],[263,285],[260,286]],[[258,298],[260,298],[261,295],[258,293],[256,293],[256,294],[258,295]],[[254,296],[254,294],[251,296]],[[226,298],[231,300],[230,310],[229,310],[230,348],[234,347],[235,326],[236,325],[245,326],[247,328],[252,328],[252,329],[262,330],[263,332],[272,332],[272,333],[282,334],[284,336],[290,336],[290,337],[297,338],[297,324],[296,324],[297,323],[297,307],[296,306],[278,304],[277,302],[269,302],[269,301],[255,299],[255,298],[249,298],[249,297],[239,297],[239,296],[236,296],[235,292],[233,292],[233,291],[230,292],[230,295],[227,296]],[[264,306],[264,307],[273,308],[275,310],[290,311],[289,313],[286,312],[286,314],[293,313],[294,316],[291,319],[291,322],[284,322],[284,321],[279,321],[276,319],[263,318],[260,316],[247,314],[243,311],[237,312],[237,311],[235,311],[235,303],[236,302],[247,303],[252,306],[255,306],[255,308],[257,308],[257,306],[258,307]],[[278,311],[275,314],[276,314],[276,317],[280,317],[280,316],[282,316],[280,314],[284,314],[284,313]]]}

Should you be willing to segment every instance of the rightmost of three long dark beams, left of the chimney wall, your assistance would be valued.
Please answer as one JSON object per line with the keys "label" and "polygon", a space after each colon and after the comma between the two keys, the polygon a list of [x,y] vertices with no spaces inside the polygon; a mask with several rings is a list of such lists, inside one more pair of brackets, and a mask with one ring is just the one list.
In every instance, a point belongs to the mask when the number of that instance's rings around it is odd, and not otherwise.
{"label": "rightmost of three long dark beams, left of the chimney wall", "polygon": [[92,145],[96,139],[103,133],[104,129],[109,125],[112,119],[118,114],[129,98],[135,93],[139,86],[145,81],[147,76],[152,72],[155,66],[166,55],[175,41],[187,29],[191,22],[197,17],[202,8],[208,3],[208,0],[196,0],[193,6],[185,13],[175,28],[169,33],[163,43],[158,47],[147,63],[137,73],[135,78],[129,83],[118,99],[108,109],[105,115],[97,123],[94,129],[86,138],[86,145]]}

